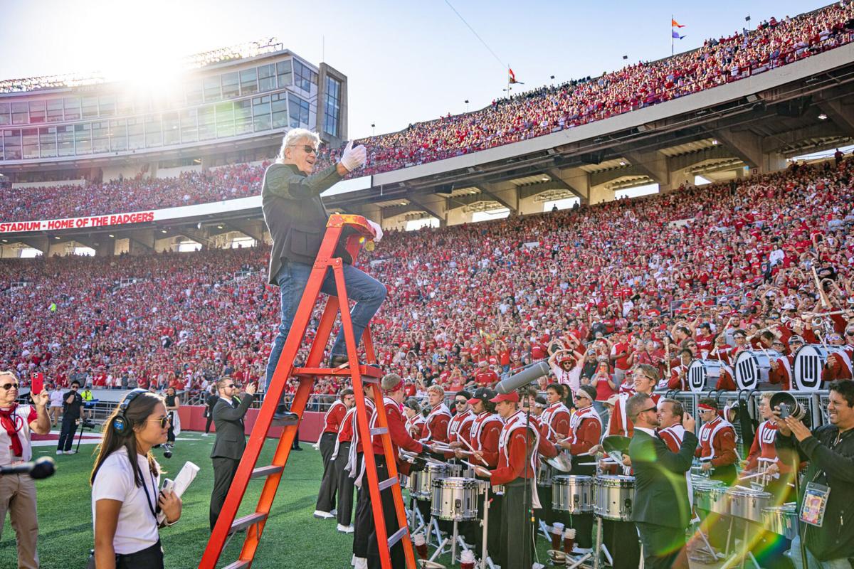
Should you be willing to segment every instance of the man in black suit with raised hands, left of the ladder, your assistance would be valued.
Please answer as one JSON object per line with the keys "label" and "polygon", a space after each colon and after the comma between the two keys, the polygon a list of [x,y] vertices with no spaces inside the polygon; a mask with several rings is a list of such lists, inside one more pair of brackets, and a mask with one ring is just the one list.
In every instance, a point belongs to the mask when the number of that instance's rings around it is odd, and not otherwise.
{"label": "man in black suit with raised hands, left of the ladder", "polygon": [[255,398],[256,386],[250,383],[242,398],[235,396],[237,384],[231,377],[217,381],[219,401],[213,406],[213,427],[216,428],[216,440],[213,441],[211,458],[213,459],[213,491],[211,492],[210,523],[219,518],[219,510],[225,502],[225,496],[231,486],[231,480],[237,473],[240,457],[246,449],[246,435],[243,433],[243,416]]}

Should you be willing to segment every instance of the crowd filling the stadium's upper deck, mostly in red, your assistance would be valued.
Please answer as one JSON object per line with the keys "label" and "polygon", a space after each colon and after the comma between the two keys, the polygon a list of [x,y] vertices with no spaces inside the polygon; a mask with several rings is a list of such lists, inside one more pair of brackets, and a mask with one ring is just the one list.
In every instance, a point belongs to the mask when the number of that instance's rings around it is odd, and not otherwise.
{"label": "crowd filling the stadium's upper deck, mostly in red", "polygon": [[[710,39],[703,47],[659,61],[640,62],[558,86],[494,101],[489,107],[371,136],[366,167],[375,174],[518,142],[606,119],[641,107],[763,73],[854,38],[854,5],[834,3],[795,18],[763,22],[757,30]],[[319,165],[341,148],[321,149]],[[260,194],[265,165],[234,165],[177,178],[142,176],[75,188],[0,189],[0,220],[28,221],[187,206]],[[85,195],[85,200],[79,196]]]}

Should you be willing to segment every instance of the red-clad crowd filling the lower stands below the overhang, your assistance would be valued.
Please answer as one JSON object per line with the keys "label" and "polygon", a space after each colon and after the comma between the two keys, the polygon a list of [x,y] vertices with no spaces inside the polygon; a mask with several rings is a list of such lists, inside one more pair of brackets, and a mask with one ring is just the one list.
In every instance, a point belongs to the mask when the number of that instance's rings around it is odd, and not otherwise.
{"label": "red-clad crowd filling the lower stands below the overhang", "polygon": [[[819,310],[813,267],[830,279],[835,305],[850,306],[852,170],[850,159],[795,165],[636,200],[390,232],[361,263],[389,288],[372,324],[377,357],[415,394],[434,382],[449,391],[493,384],[506,370],[586,342],[581,380],[597,386],[601,402],[617,388],[601,378],[621,377],[634,363],[664,371],[665,330],[676,357],[684,347],[710,351],[724,330],[727,347],[738,329],[756,343],[783,316]],[[278,322],[268,257],[262,246],[4,259],[0,363],[22,380],[41,372],[59,385],[200,392],[224,374],[257,380]],[[828,341],[854,342],[841,335],[845,322],[839,327]],[[676,345],[687,336],[693,346]],[[317,392],[340,388],[329,380]]]}

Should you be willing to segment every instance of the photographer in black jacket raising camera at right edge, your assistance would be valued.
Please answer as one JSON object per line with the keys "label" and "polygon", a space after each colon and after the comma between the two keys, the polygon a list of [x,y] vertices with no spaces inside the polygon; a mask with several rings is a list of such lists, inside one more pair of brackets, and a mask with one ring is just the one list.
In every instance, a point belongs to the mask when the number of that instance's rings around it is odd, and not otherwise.
{"label": "photographer in black jacket raising camera at right edge", "polygon": [[[820,525],[801,522],[810,566],[849,569],[854,559],[854,381],[834,381],[829,389],[830,424],[815,432],[789,415],[792,409],[775,406],[776,447],[788,464],[798,460],[794,450],[799,460],[810,461],[798,503],[803,504],[804,492],[810,491],[810,496],[818,496],[816,511],[823,513]],[[792,555],[795,565],[803,567],[798,539],[792,543]]]}

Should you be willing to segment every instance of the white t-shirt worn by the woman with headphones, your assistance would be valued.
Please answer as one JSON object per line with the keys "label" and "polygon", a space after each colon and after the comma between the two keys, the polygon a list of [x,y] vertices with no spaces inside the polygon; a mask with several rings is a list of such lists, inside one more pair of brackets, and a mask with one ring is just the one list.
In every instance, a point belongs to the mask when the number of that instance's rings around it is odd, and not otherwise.
{"label": "white t-shirt worn by the woman with headphones", "polygon": [[[92,485],[92,524],[95,524],[95,503],[98,500],[118,500],[122,502],[119,510],[119,523],[115,528],[113,547],[117,554],[132,554],[149,548],[158,540],[157,520],[151,514],[157,508],[157,489],[160,487],[160,474],[156,476],[149,470],[148,458],[137,455],[139,469],[143,473],[143,484],[137,486],[133,481],[131,463],[127,460],[127,450],[121,447],[108,456],[98,469],[95,483]],[[148,491],[148,497],[145,491]],[[148,500],[148,505],[146,505]]]}

